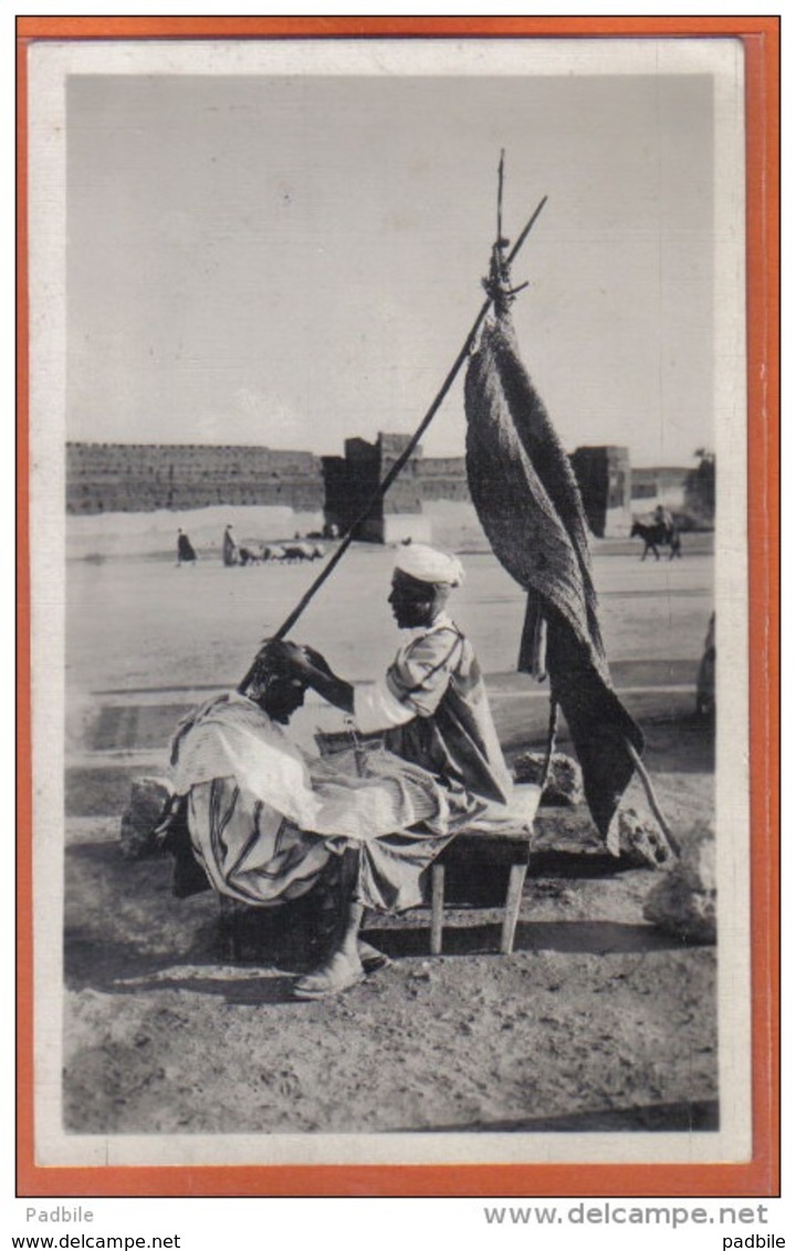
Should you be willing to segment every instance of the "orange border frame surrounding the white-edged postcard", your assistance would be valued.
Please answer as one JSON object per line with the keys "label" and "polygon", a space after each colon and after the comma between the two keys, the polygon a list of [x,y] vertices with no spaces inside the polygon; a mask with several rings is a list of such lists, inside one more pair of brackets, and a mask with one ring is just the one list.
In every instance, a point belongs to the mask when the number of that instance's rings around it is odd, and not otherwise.
{"label": "orange border frame surrounding the white-edged postcard", "polygon": [[[780,19],[17,18],[17,1196],[775,1196],[779,1193]],[[29,574],[27,48],[39,40],[692,38],[746,54],[752,1157],[734,1165],[54,1167],[35,1163]]]}

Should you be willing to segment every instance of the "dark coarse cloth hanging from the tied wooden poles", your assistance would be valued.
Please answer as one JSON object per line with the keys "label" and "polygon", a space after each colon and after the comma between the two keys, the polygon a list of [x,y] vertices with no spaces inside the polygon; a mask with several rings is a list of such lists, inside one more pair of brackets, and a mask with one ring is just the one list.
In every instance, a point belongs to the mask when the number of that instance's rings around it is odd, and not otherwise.
{"label": "dark coarse cloth hanging from the tied wooden poles", "polygon": [[[495,555],[527,590],[519,668],[550,677],[604,837],[634,773],[641,731],[614,691],[569,458],[522,364],[511,318],[484,328],[465,383],[467,478]],[[546,648],[542,641],[546,637]]]}

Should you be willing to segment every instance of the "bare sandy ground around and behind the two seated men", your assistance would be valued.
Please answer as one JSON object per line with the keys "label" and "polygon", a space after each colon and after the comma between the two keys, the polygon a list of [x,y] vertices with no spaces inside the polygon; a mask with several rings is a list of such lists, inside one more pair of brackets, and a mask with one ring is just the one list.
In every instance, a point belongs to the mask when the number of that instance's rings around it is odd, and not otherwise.
{"label": "bare sandy ground around and behind the two seated men", "polygon": [[[710,727],[694,679],[712,559],[597,553],[615,678],[647,734],[676,832],[714,814]],[[507,753],[544,738],[546,698],[512,672],[522,599],[465,557],[455,615],[481,654]],[[317,572],[317,570],[315,570]],[[446,913],[371,917],[391,967],[337,1000],[291,1001],[316,956],[307,909],[246,918],[231,963],[207,893],[171,896],[171,862],[125,862],[130,779],[160,772],[176,718],[245,669],[309,569],[74,562],[69,572],[64,1126],[75,1133],[687,1131],[719,1121],[715,950],[642,916],[657,873],[607,858],[584,809],[542,809],[511,956],[504,889]],[[397,638],[389,553],[352,550],[297,636],[351,678]],[[329,724],[320,706],[296,732]],[[566,734],[561,744],[566,749]],[[634,797],[637,799],[639,796]]]}

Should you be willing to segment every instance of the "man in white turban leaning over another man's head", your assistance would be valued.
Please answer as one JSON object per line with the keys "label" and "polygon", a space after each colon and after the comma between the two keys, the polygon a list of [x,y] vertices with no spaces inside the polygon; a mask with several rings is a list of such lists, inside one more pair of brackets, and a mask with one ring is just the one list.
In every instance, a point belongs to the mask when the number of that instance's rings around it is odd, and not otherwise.
{"label": "man in white turban leaning over another man's head", "polygon": [[389,602],[410,638],[372,686],[355,688],[306,648],[294,656],[296,676],[351,713],[361,733],[384,731],[389,751],[437,778],[451,828],[505,819],[512,802],[477,658],[445,610],[462,579],[455,555],[421,543],[399,549]]}

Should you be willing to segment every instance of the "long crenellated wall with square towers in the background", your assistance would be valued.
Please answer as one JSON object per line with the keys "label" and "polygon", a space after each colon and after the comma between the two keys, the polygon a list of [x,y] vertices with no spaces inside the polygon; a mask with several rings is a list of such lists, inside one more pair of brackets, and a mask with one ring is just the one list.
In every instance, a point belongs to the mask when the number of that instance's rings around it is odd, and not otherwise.
{"label": "long crenellated wall with square towers in the background", "polygon": [[[256,445],[67,443],[66,512],[281,505],[314,514],[319,528],[325,520],[346,534],[355,525],[357,539],[397,543],[432,539],[441,505],[452,502],[464,505],[454,509],[457,524],[471,514],[466,524],[477,535],[464,457],[424,457],[415,448],[386,495],[370,504],[409,442],[407,434],[381,433],[375,443],[350,438],[341,457]],[[631,469],[627,448],[606,445],[577,448],[570,462],[590,529],[600,538],[625,535],[632,514],[659,504],[712,523],[712,458],[704,458],[699,470]]]}

